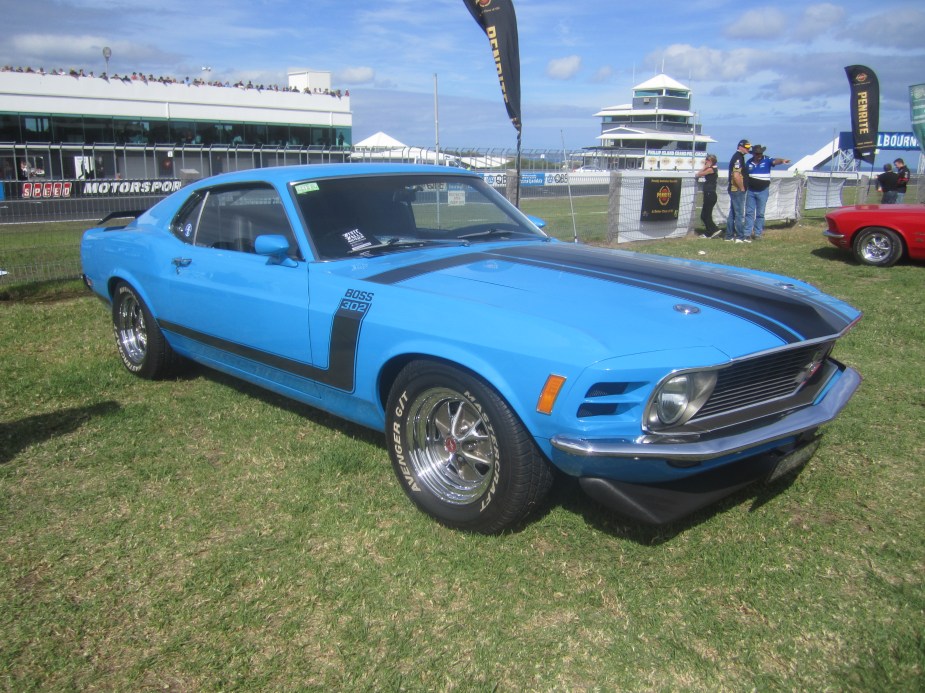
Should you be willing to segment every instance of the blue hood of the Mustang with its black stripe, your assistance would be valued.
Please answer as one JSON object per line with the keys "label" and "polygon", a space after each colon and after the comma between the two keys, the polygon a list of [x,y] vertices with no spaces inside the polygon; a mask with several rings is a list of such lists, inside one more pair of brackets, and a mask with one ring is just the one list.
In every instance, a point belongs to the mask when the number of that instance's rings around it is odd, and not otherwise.
{"label": "blue hood of the Mustang with its black stripe", "polygon": [[504,331],[543,324],[584,335],[612,356],[709,346],[736,358],[837,336],[860,315],[785,277],[592,246],[491,245],[424,258],[404,255],[366,279],[436,294],[442,315],[453,315],[453,302],[477,304]]}

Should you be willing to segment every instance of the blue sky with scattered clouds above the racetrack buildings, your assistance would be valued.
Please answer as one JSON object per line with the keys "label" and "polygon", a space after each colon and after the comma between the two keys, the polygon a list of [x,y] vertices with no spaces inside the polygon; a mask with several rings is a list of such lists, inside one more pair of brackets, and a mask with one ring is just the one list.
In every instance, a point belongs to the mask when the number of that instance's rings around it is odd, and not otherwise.
{"label": "blue sky with scattered clouds above the racetrack buildings", "polygon": [[[285,84],[332,73],[354,141],[513,148],[487,39],[462,0],[0,0],[0,63]],[[515,0],[525,149],[589,146],[594,113],[662,71],[690,86],[717,153],[740,137],[797,159],[850,129],[844,67],[872,68],[881,131],[910,131],[925,82],[921,2]],[[435,80],[436,75],[436,80]],[[879,160],[878,160],[879,162]]]}

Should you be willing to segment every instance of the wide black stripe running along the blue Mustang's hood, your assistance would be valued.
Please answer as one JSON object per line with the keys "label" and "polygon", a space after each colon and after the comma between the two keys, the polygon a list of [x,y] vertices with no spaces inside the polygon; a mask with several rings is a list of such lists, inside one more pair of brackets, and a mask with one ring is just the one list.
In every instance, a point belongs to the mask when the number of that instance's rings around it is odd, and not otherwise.
{"label": "wide black stripe running along the blue Mustang's hood", "polygon": [[390,270],[370,281],[393,284],[429,272],[489,259],[555,269],[635,286],[736,315],[787,343],[834,337],[851,320],[825,304],[781,287],[752,284],[724,272],[667,263],[640,254],[621,256],[588,246],[542,244],[503,248]]}

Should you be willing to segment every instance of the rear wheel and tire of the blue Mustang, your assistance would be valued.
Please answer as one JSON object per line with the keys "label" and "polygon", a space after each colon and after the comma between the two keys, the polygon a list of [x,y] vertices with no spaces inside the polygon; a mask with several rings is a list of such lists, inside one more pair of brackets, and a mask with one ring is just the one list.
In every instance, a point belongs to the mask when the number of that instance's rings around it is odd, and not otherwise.
{"label": "rear wheel and tire of the blue Mustang", "polygon": [[174,370],[177,357],[173,349],[144,301],[125,282],[113,292],[112,329],[122,363],[131,373],[157,380]]}

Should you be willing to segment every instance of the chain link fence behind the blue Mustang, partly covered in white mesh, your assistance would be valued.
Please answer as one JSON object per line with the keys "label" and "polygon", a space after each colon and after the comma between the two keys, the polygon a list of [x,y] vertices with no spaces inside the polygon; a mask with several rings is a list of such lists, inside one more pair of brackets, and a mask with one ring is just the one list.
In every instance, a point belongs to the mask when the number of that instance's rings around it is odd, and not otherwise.
{"label": "chain link fence behind the blue Mustang, partly covered in white mesh", "polygon": [[[680,237],[700,226],[700,186],[690,171],[597,170],[582,165],[585,156],[583,151],[522,152],[518,186],[515,154],[499,149],[0,144],[0,285],[76,278],[80,236],[97,220],[148,209],[205,176],[270,166],[436,162],[472,169],[524,212],[543,219],[550,235],[569,241]],[[14,165],[23,162],[20,175],[12,175]],[[721,177],[714,211],[721,226],[728,210],[724,187]],[[911,185],[905,201],[919,202],[917,191]],[[877,201],[870,176],[775,173],[767,219],[795,221],[807,210]]]}

